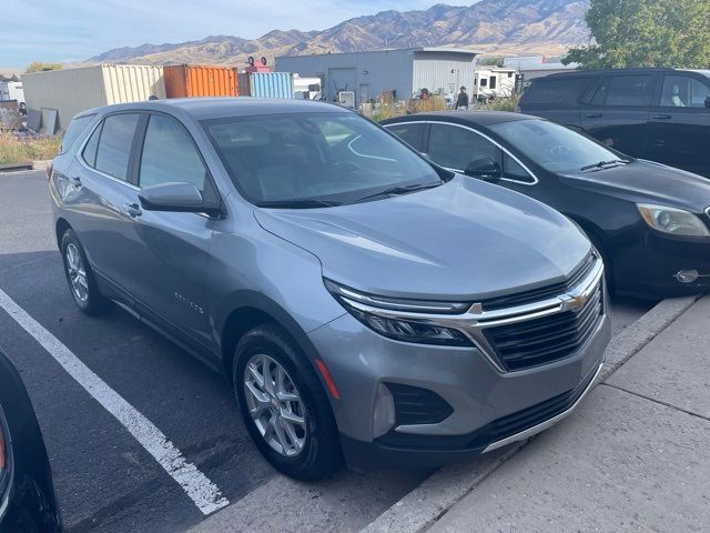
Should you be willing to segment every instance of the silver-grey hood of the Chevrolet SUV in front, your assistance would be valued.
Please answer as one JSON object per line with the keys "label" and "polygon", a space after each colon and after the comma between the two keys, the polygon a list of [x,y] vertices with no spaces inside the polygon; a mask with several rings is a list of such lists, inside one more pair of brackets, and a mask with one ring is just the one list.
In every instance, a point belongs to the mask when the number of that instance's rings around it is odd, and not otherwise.
{"label": "silver-grey hood of the Chevrolet SUV in front", "polygon": [[564,281],[590,251],[564,215],[457,175],[389,199],[308,210],[257,208],[266,231],[315,254],[359,291],[470,301]]}

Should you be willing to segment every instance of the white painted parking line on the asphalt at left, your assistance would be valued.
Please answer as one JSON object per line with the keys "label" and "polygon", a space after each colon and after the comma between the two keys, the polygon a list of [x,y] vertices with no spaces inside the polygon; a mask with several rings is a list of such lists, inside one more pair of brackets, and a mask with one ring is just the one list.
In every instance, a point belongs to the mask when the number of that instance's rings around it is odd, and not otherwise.
{"label": "white painted parking line on the asphalt at left", "polygon": [[2,289],[0,289],[0,306],[32,335],[94,400],[123,424],[165,472],[180,483],[203,514],[210,514],[230,503],[222,496],[214,483],[194,464],[185,461],[180,450],[150,420],[94,374],[71,350],[30,316]]}

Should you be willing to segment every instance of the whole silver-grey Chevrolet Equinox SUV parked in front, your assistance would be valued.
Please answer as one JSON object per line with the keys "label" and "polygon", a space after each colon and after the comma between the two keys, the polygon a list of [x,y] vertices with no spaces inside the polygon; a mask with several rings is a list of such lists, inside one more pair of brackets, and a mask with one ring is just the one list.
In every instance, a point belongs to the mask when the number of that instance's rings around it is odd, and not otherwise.
{"label": "whole silver-grey Chevrolet Equinox SUV parked in front", "polygon": [[430,467],[569,414],[610,328],[604,264],[546,205],[316,102],[83,112],[49,171],[69,289],[225,372],[297,479]]}

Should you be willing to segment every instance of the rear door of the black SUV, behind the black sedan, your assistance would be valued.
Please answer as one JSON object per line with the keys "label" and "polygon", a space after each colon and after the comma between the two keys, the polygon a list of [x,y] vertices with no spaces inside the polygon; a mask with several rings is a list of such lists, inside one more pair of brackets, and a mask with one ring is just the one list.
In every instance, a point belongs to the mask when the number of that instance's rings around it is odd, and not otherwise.
{"label": "rear door of the black SUV, behind the black sedan", "polygon": [[582,129],[622,153],[645,158],[655,79],[652,73],[607,74],[580,108]]}

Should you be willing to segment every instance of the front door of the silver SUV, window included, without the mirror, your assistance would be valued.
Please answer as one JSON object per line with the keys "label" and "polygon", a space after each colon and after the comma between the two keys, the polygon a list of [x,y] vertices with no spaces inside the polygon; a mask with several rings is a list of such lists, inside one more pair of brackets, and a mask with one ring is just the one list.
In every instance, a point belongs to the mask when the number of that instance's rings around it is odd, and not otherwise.
{"label": "front door of the silver SUV, window included, without the mirror", "polygon": [[[204,197],[216,194],[197,147],[174,118],[151,113],[135,157],[135,217],[129,290],[139,312],[159,326],[209,349],[205,276],[213,220],[197,213],[141,209],[140,190],[168,182],[194,183]],[[196,344],[195,344],[196,342]]]}

